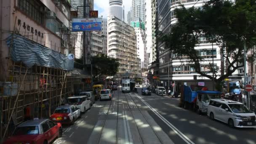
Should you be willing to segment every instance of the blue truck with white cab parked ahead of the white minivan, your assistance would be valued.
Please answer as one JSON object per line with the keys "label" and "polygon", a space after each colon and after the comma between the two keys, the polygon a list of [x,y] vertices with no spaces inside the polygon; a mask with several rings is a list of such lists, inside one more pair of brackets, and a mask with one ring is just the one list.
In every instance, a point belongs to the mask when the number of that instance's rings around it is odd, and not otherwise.
{"label": "blue truck with white cab parked ahead of the white minivan", "polygon": [[192,89],[184,85],[181,89],[181,104],[185,109],[193,109],[198,114],[205,113],[211,99],[220,99],[219,91],[192,91]]}

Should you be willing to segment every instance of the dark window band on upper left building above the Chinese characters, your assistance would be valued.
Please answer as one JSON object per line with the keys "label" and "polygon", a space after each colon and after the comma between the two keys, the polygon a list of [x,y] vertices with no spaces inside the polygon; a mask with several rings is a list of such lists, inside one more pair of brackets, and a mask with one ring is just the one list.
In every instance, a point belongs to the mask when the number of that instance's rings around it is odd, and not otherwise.
{"label": "dark window band on upper left building above the Chinese characters", "polygon": [[40,12],[44,6],[36,0],[18,0],[18,8],[39,24],[44,24],[44,14]]}

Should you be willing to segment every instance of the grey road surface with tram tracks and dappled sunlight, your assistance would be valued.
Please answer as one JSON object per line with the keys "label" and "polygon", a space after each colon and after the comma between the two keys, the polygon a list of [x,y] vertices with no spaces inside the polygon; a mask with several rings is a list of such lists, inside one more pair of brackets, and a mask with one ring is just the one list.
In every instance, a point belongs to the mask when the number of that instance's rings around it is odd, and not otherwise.
{"label": "grey road surface with tram tracks and dappled sunlight", "polygon": [[256,144],[256,129],[229,128],[178,107],[178,98],[113,91],[54,144]]}

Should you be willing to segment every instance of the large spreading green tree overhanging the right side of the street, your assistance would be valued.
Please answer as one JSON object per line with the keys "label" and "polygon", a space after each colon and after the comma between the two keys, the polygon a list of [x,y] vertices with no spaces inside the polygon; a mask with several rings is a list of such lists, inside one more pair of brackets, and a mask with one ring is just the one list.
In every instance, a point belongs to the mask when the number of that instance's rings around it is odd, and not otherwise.
{"label": "large spreading green tree overhanging the right side of the street", "polygon": [[[244,43],[246,52],[256,45],[255,0],[236,0],[234,3],[230,0],[210,0],[202,8],[180,5],[175,9],[175,15],[176,24],[169,34],[162,34],[160,41],[178,56],[188,56],[186,64],[194,67],[195,72],[220,83],[235,70],[244,67]],[[219,67],[214,68],[214,77],[201,71],[200,63],[205,59],[195,49],[201,43],[200,37],[220,47],[217,55],[223,56],[227,62],[224,74],[221,75]],[[247,61],[253,60],[253,57],[254,53],[247,56]]]}

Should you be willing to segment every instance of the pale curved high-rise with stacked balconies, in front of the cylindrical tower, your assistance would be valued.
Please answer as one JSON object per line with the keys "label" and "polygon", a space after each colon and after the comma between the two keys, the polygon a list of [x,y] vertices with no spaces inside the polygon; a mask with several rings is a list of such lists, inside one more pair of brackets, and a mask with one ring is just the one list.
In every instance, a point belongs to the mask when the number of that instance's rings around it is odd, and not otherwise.
{"label": "pale curved high-rise with stacked balconies, in front of the cylindrical tower", "polygon": [[108,17],[107,55],[117,58],[120,62],[117,77],[120,78],[125,72],[131,77],[138,75],[137,40],[133,27],[115,16]]}

